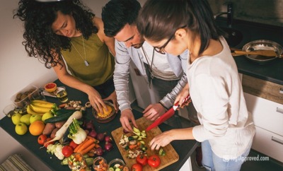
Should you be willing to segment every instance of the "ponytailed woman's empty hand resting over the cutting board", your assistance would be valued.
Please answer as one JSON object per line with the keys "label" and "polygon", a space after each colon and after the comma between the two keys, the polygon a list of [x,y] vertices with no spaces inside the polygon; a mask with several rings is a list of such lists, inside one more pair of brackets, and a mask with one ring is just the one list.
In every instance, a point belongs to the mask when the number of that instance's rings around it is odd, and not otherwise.
{"label": "ponytailed woman's empty hand resting over the cutting board", "polygon": [[149,146],[151,148],[151,151],[159,150],[160,147],[167,146],[168,143],[171,143],[171,141],[173,140],[172,131],[165,131],[162,134],[159,134],[158,136],[151,139]]}

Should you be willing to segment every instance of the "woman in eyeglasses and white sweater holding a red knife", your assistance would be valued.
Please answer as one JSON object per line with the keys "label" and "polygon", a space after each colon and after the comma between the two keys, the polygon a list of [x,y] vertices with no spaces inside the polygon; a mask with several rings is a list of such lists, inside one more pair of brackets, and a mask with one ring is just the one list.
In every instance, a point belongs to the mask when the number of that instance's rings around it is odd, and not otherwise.
{"label": "woman in eyeglasses and white sweater holding a red knife", "polygon": [[241,81],[229,45],[217,28],[206,0],[149,0],[141,8],[137,28],[149,44],[173,55],[188,49],[187,81],[175,102],[190,93],[200,125],[163,132],[151,149],[174,140],[202,142],[207,170],[240,170],[255,134]]}

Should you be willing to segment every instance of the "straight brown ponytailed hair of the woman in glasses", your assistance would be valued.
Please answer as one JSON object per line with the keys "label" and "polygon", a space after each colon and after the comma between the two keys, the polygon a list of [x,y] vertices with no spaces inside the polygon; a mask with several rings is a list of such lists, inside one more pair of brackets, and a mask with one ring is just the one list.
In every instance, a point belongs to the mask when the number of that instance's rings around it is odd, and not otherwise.
{"label": "straight brown ponytailed hair of the woman in glasses", "polygon": [[139,33],[154,42],[171,37],[184,25],[200,35],[199,54],[207,49],[210,39],[224,35],[216,26],[207,0],[148,0],[137,20]]}

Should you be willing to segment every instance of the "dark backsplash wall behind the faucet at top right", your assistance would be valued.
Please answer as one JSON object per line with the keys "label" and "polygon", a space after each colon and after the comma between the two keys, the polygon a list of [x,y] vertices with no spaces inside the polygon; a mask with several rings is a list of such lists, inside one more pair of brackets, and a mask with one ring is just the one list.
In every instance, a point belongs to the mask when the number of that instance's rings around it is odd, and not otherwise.
{"label": "dark backsplash wall behind the faucet at top right", "polygon": [[[283,27],[282,0],[208,0],[214,15],[226,12],[226,4],[233,3],[233,18],[254,23]],[[223,15],[223,17],[226,17]]]}

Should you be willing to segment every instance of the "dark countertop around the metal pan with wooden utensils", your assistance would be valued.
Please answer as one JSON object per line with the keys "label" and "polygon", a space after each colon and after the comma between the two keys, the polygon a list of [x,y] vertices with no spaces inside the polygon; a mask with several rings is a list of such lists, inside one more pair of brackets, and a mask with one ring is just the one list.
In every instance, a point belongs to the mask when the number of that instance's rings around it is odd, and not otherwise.
{"label": "dark countertop around the metal pan with wooden utensils", "polygon": [[[225,18],[219,18],[216,23],[224,28],[226,25]],[[240,30],[243,33],[243,40],[235,46],[241,49],[246,43],[253,40],[271,40],[283,46],[283,28],[272,25],[263,25],[259,23],[251,23],[242,20],[233,20],[231,28]],[[265,81],[283,85],[283,57],[277,58],[267,64],[258,64],[248,60],[245,56],[234,57],[238,66],[239,73],[260,78]]]}

